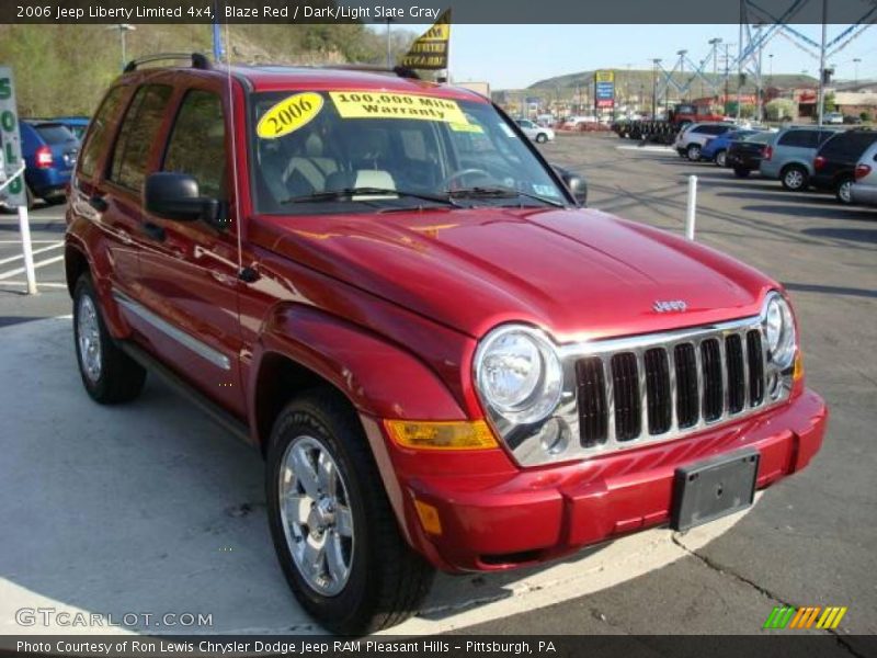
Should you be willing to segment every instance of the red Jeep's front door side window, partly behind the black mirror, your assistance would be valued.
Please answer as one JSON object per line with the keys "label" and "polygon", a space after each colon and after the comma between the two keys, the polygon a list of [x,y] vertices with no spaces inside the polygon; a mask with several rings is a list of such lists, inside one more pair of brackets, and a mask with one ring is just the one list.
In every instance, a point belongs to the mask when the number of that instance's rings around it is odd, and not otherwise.
{"label": "red Jeep's front door side window, partly behind the black mirror", "polygon": [[162,169],[193,175],[203,195],[225,198],[226,124],[219,97],[206,91],[186,94]]}

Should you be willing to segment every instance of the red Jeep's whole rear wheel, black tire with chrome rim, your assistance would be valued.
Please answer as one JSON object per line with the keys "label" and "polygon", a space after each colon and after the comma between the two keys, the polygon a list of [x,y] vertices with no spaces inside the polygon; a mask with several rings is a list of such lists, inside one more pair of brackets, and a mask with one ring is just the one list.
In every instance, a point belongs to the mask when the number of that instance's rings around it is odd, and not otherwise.
{"label": "red Jeep's whole rear wheel, black tire with chrome rim", "polygon": [[95,402],[127,402],[140,395],[146,371],[113,341],[88,274],[73,291],[73,338],[82,385]]}

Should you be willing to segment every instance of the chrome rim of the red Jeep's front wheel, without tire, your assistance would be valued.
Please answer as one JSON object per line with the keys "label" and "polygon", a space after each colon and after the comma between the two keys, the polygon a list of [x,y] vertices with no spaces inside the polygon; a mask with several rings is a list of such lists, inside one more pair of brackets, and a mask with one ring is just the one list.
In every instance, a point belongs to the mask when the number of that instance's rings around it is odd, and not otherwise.
{"label": "chrome rim of the red Jeep's front wheel, without tire", "polygon": [[305,581],[319,594],[344,589],[353,565],[353,513],[344,478],[323,443],[297,436],[280,469],[281,521]]}

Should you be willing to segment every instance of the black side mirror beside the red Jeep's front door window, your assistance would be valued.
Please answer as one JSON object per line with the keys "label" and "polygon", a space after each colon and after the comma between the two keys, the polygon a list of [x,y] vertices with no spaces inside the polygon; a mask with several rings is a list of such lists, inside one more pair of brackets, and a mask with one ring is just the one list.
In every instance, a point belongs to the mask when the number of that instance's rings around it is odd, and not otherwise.
{"label": "black side mirror beside the red Jeep's front door window", "polygon": [[160,171],[146,179],[144,206],[153,215],[175,222],[204,219],[215,225],[219,217],[219,201],[201,196],[194,177],[173,171]]}

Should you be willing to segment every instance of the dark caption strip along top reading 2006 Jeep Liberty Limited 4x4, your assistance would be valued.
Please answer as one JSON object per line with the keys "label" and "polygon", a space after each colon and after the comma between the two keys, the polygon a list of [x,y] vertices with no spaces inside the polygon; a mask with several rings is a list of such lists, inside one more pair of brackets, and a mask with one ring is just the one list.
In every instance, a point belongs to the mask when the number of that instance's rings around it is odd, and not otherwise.
{"label": "dark caption strip along top reading 2006 Jeep Liberty Limited 4x4", "polygon": [[[822,21],[821,2],[748,3],[752,22]],[[874,21],[874,0],[832,0],[829,23]],[[2,0],[0,23],[375,23],[430,24],[453,9],[457,24],[738,24],[740,4],[716,0]]]}

